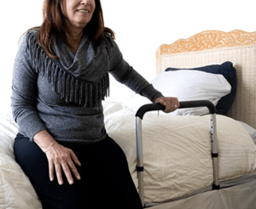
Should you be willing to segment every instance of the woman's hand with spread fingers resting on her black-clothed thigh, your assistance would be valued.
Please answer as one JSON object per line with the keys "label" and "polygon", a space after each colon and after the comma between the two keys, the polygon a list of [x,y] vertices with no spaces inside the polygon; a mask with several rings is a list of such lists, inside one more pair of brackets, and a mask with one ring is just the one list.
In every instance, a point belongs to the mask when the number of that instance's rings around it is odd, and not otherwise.
{"label": "woman's hand with spread fingers resting on her black-clothed thigh", "polygon": [[59,184],[63,184],[61,168],[63,169],[69,184],[73,184],[73,177],[71,172],[73,172],[77,179],[80,179],[79,172],[73,162],[79,166],[81,166],[81,164],[78,157],[73,153],[73,150],[58,144],[46,130],[42,130],[37,133],[33,139],[34,142],[38,144],[38,146],[47,156],[49,162],[49,179],[51,181],[54,180],[55,170]]}

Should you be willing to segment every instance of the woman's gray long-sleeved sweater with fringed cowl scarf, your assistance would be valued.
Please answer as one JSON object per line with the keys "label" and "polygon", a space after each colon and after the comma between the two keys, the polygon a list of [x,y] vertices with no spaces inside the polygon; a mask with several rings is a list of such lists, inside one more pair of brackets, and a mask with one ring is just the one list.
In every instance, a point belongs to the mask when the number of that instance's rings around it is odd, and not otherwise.
{"label": "woman's gray long-sleeved sweater with fringed cowl scarf", "polygon": [[[163,96],[125,62],[112,37],[106,35],[99,52],[88,37],[83,40],[77,53],[84,59],[78,59],[56,38],[55,60],[38,45],[37,31],[23,39],[15,58],[11,106],[19,132],[31,141],[44,129],[60,142],[92,144],[106,138],[102,99],[108,96],[108,72],[152,102]],[[63,51],[65,59],[59,57]]]}

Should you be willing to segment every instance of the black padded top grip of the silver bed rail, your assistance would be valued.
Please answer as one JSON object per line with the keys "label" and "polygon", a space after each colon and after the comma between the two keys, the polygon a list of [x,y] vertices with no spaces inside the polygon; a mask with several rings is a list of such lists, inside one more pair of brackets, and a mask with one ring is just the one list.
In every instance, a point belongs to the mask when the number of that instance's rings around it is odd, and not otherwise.
{"label": "black padded top grip of the silver bed rail", "polygon": [[[206,106],[210,112],[210,114],[216,113],[216,108],[212,102],[208,100],[195,100],[195,101],[186,101],[186,102],[179,102],[180,108],[191,108],[191,107],[204,107]],[[165,110],[166,107],[162,104],[156,103],[156,104],[145,104],[143,105],[139,110],[137,110],[136,116],[143,120],[143,116],[148,111],[154,111],[154,110]]]}

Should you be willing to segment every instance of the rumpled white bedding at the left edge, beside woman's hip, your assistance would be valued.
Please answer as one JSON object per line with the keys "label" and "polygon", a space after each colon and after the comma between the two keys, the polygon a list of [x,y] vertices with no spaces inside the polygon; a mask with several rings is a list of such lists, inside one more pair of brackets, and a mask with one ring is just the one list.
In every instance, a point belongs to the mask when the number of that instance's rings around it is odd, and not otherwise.
{"label": "rumpled white bedding at the left edge, beside woman's hip", "polygon": [[0,115],[0,208],[40,209],[41,202],[13,150],[18,127],[9,114]]}

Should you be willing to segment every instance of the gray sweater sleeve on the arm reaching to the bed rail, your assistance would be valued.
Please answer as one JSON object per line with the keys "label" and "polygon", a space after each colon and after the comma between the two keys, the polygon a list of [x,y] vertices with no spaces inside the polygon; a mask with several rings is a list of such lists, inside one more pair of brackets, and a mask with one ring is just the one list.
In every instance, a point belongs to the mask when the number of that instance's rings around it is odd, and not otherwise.
{"label": "gray sweater sleeve on the arm reaching to the bed rail", "polygon": [[123,55],[119,51],[119,47],[111,40],[111,53],[110,53],[110,74],[122,84],[125,84],[128,88],[131,88],[135,93],[148,98],[154,103],[154,100],[163,97],[162,93],[154,89],[152,84],[149,84],[143,76],[135,71],[131,65],[129,65]]}

